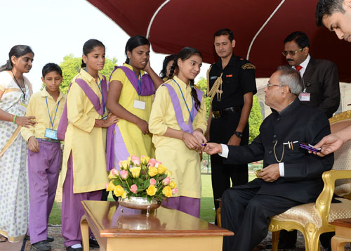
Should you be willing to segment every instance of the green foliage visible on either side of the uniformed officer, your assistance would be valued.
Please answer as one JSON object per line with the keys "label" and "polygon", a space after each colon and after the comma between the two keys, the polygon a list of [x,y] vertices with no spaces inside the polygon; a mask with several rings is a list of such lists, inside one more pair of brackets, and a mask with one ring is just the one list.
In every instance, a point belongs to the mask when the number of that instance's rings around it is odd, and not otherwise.
{"label": "green foliage visible on either side of the uniformed officer", "polygon": [[[197,87],[204,93],[205,103],[206,103],[206,114],[208,117],[208,113],[211,109],[211,98],[207,97],[207,80],[204,77],[200,77],[200,80],[197,82]],[[260,134],[260,124],[262,123],[262,114],[260,112],[260,103],[258,102],[257,96],[253,96],[253,105],[250,112],[249,117],[249,125],[250,125],[250,135],[249,135],[249,143],[253,141],[253,139]]]}

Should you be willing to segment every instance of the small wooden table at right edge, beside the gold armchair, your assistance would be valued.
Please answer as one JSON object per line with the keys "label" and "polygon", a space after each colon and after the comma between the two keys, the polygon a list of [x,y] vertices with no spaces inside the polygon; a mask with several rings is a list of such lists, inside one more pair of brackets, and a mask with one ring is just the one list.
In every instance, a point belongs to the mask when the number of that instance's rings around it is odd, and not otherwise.
{"label": "small wooden table at right edge, beside the gold armchair", "polygon": [[331,224],[335,226],[335,236],[331,238],[331,250],[345,250],[345,244],[351,242],[351,218],[336,219]]}

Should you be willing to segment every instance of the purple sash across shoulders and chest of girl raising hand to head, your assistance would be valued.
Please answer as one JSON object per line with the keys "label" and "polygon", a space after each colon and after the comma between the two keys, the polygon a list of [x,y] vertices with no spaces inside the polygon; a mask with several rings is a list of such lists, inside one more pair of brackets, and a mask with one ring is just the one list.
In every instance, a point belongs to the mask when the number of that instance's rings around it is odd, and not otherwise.
{"label": "purple sash across shoulders and chest of girl raising hand to head", "polygon": [[[124,74],[128,77],[136,93],[138,94],[139,93],[138,79],[135,75],[135,72],[133,72],[133,70],[129,69],[126,66],[114,66],[114,70],[111,72],[111,75],[110,75],[109,85],[111,82],[112,73],[118,68],[121,68],[121,70],[124,71]],[[155,92],[154,82],[152,82],[151,77],[145,73],[143,77],[141,77],[140,96],[150,96],[154,94],[154,92]]]}

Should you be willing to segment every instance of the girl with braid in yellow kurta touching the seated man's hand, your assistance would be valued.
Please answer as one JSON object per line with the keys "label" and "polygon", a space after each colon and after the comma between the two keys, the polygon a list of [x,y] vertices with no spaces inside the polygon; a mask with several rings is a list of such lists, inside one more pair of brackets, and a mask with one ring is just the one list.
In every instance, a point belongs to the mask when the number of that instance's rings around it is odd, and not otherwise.
{"label": "girl with braid in yellow kurta touching the seated man's hand", "polygon": [[206,143],[206,107],[201,92],[194,88],[201,64],[197,49],[185,47],[178,53],[171,68],[172,75],[178,67],[178,76],[157,90],[149,121],[156,159],[173,173],[178,187],[178,193],[164,204],[195,217],[200,214],[201,198],[199,150]]}

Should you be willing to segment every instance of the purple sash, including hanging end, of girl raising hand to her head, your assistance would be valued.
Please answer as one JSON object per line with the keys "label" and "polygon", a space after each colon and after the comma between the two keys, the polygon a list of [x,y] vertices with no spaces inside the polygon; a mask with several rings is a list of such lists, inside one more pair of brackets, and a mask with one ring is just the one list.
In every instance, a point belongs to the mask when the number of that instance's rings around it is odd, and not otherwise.
{"label": "purple sash, including hanging end, of girl raising hand to her head", "polygon": [[[133,72],[133,70],[129,69],[126,66],[114,66],[114,70],[111,72],[111,75],[110,75],[109,85],[111,82],[112,73],[118,68],[121,68],[121,70],[123,70],[124,74],[129,79],[136,93],[138,94],[139,92],[138,79],[135,75],[135,72]],[[140,96],[150,96],[154,94],[154,92],[155,92],[154,82],[152,82],[151,77],[145,73],[143,77],[141,77]],[[114,129],[115,127],[116,127],[116,124],[112,124],[109,128],[107,128],[107,134],[106,134],[107,171],[110,171],[112,168],[114,168]]]}

